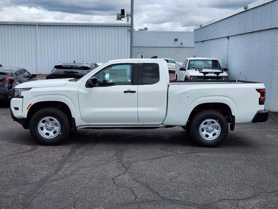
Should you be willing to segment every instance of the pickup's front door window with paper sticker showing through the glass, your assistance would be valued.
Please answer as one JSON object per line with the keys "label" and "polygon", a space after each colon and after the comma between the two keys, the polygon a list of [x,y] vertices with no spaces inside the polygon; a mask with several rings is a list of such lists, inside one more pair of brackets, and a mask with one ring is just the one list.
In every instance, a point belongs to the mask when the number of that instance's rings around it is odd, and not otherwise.
{"label": "pickup's front door window with paper sticker showing through the glass", "polygon": [[94,76],[97,77],[97,86],[131,85],[132,64],[111,65]]}

